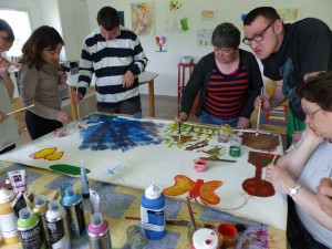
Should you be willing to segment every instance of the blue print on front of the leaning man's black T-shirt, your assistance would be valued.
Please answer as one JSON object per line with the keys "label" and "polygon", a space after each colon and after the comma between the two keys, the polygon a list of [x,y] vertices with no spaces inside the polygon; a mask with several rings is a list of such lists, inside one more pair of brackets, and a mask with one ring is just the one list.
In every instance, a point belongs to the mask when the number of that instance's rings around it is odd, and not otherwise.
{"label": "blue print on front of the leaning man's black T-shirt", "polygon": [[289,98],[292,107],[297,112],[301,112],[301,101],[295,97],[297,84],[292,76],[294,71],[294,65],[291,58],[287,58],[283,66],[280,68],[280,74],[283,77],[282,93]]}

